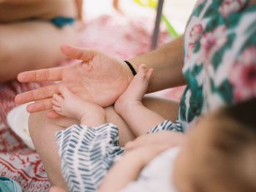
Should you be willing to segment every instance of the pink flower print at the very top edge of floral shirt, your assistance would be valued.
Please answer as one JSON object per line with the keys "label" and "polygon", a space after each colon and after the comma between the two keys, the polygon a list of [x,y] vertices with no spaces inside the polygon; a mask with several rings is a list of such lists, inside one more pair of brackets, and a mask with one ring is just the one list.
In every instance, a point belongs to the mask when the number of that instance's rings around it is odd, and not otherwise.
{"label": "pink flower print at the very top edge of floral shirt", "polygon": [[219,12],[224,18],[227,18],[228,15],[232,12],[236,12],[244,7],[246,0],[225,0],[222,2],[222,6],[219,8]]}

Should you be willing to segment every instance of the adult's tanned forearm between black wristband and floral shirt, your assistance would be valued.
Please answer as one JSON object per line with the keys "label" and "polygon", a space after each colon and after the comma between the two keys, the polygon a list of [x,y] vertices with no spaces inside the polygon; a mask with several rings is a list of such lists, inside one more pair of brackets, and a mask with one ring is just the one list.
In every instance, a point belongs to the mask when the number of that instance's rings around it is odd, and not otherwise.
{"label": "adult's tanned forearm between black wristband and floral shirt", "polygon": [[141,64],[146,64],[149,68],[154,69],[154,77],[151,80],[148,93],[185,84],[182,74],[184,66],[183,36],[157,50],[129,61],[136,70]]}

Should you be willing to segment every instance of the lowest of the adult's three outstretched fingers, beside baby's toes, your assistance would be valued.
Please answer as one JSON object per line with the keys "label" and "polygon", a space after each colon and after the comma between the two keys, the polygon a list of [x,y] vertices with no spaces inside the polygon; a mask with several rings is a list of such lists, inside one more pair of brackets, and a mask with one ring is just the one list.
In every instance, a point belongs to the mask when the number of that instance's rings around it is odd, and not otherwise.
{"label": "lowest of the adult's three outstretched fingers, beside baby's toes", "polygon": [[30,113],[50,110],[53,107],[53,104],[51,103],[51,100],[52,99],[44,99],[44,100],[41,100],[41,101],[36,101],[34,103],[29,104],[26,107],[26,110]]}

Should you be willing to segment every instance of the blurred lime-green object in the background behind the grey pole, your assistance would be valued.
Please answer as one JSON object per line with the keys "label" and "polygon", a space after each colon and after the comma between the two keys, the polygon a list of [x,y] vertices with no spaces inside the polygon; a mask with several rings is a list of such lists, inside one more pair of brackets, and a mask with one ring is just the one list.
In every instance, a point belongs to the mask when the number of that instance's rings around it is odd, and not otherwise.
{"label": "blurred lime-green object in the background behind the grey pole", "polygon": [[[134,0],[135,3],[139,4],[142,7],[151,7],[156,9],[157,8],[157,0]],[[170,24],[169,20],[167,20],[167,17],[162,14],[162,22],[165,23],[165,26],[167,28],[168,33],[171,37],[176,39],[178,37],[178,32],[175,28],[173,28],[172,24]]]}

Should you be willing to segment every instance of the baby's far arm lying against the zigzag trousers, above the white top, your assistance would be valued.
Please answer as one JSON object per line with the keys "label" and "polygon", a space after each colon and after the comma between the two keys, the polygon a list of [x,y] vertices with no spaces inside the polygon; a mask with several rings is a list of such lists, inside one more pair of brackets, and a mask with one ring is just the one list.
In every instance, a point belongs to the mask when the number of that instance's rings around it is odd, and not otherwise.
{"label": "baby's far arm lying against the zigzag trousers, above the white top", "polygon": [[185,135],[173,131],[160,131],[154,134],[144,134],[137,139],[127,142],[125,150],[135,150],[136,148],[145,147],[148,145],[167,145],[174,147],[181,145],[184,142]]}

